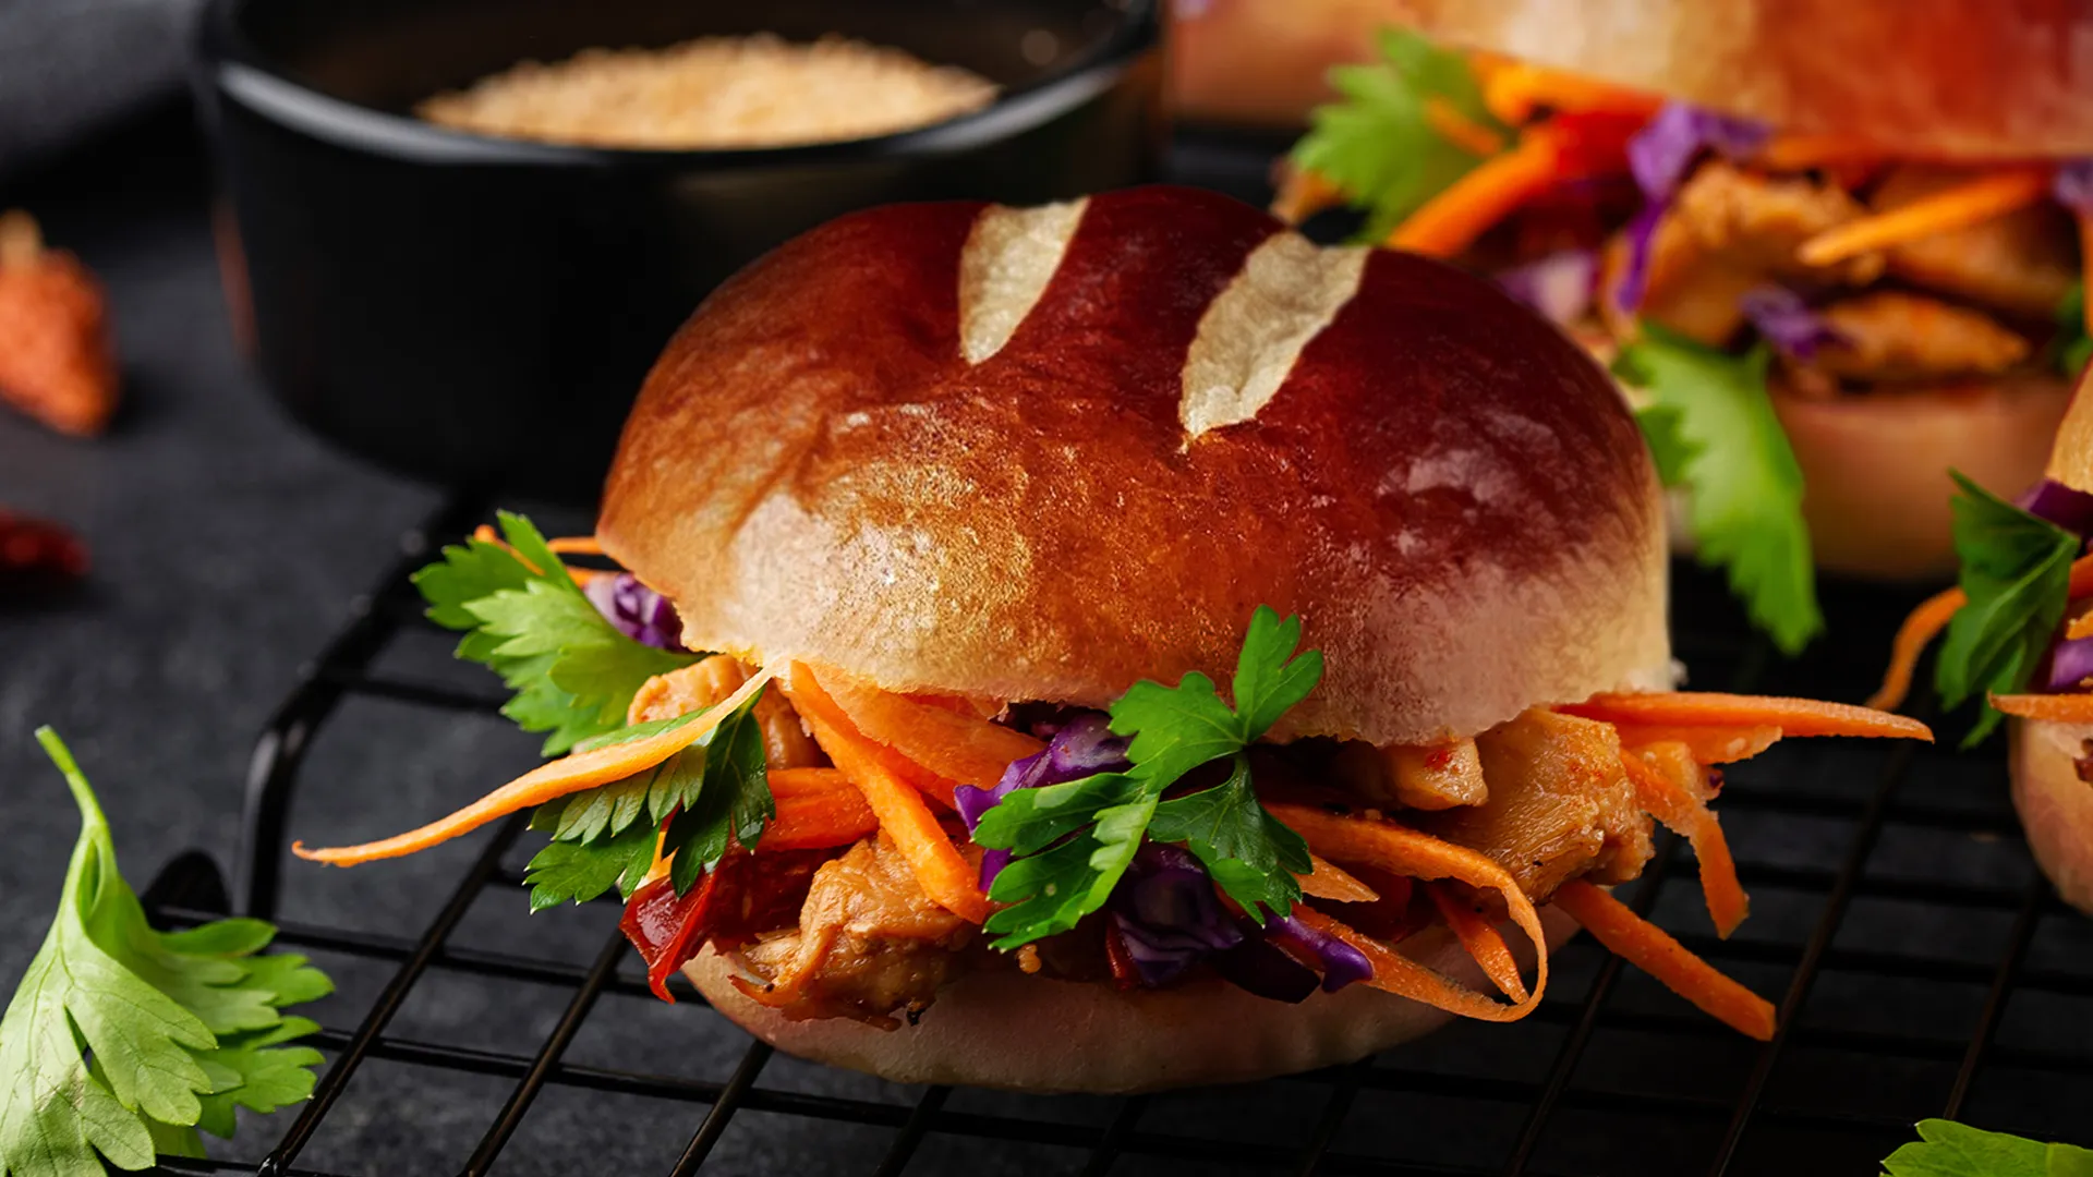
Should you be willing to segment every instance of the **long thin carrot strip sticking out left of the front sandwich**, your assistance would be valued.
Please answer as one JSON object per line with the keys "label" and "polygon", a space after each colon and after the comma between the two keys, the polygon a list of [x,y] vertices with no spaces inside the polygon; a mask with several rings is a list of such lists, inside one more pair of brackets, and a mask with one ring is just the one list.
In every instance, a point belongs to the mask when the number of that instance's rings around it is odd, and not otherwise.
{"label": "long thin carrot strip sticking out left of the front sandwich", "polygon": [[626,777],[645,773],[661,760],[668,760],[670,756],[697,743],[697,737],[705,735],[714,727],[720,727],[722,718],[745,704],[749,695],[760,691],[768,681],[770,670],[758,670],[747,683],[741,685],[741,689],[726,695],[691,723],[655,735],[645,735],[640,739],[630,739],[626,743],[611,743],[592,752],[576,752],[573,756],[538,764],[530,773],[523,773],[458,813],[440,817],[421,829],[410,829],[406,834],[385,838],[383,842],[335,846],[327,850],[308,850],[303,842],[291,842],[291,852],[299,859],[329,863],[335,867],[354,867],[377,859],[398,859],[402,854],[414,854],[419,850],[427,850],[429,846],[450,842],[460,834],[471,834],[498,817],[509,817],[511,813],[532,808],[548,800],[559,800],[582,790],[592,790],[597,785],[607,785],[611,781],[624,781]]}

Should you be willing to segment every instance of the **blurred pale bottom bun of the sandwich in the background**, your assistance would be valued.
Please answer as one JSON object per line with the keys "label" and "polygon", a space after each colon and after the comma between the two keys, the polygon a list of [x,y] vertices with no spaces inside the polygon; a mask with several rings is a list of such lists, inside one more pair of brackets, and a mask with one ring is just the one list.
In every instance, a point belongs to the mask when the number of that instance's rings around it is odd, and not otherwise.
{"label": "blurred pale bottom bun of the sandwich in the background", "polygon": [[1817,565],[1890,580],[1953,576],[1949,469],[2020,494],[2043,478],[2068,402],[2070,385],[2039,375],[1829,400],[1775,383]]}

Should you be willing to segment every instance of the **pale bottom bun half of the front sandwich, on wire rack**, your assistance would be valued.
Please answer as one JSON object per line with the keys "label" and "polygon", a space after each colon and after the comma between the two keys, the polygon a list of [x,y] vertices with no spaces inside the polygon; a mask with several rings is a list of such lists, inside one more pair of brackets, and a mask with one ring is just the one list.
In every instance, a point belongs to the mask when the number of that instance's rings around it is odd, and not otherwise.
{"label": "pale bottom bun half of the front sandwich, on wire rack", "polygon": [[[1549,949],[1576,921],[1540,909]],[[1509,928],[1507,928],[1509,932]],[[1509,932],[1522,968],[1532,947]],[[1488,991],[1482,970],[1442,928],[1404,955]],[[1300,1005],[1252,997],[1218,980],[1120,993],[1021,972],[969,974],[938,993],[915,1026],[875,1030],[841,1018],[793,1022],[741,995],[733,965],[705,949],[684,965],[716,1009],[800,1058],[896,1083],[961,1083],[1015,1091],[1130,1093],[1199,1083],[1245,1083],[1354,1062],[1446,1024],[1450,1014],[1354,984]]]}

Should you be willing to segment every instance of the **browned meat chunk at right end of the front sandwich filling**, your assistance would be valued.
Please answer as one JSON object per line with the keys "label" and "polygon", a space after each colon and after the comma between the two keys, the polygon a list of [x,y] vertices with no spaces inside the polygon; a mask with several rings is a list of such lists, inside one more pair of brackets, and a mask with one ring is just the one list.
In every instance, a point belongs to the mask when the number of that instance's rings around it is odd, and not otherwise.
{"label": "browned meat chunk at right end of the front sandwich filling", "polygon": [[1651,823],[1612,725],[1534,708],[1478,735],[1476,748],[1488,804],[1417,815],[1419,829],[1496,859],[1534,903],[1574,878],[1610,884],[1643,871]]}

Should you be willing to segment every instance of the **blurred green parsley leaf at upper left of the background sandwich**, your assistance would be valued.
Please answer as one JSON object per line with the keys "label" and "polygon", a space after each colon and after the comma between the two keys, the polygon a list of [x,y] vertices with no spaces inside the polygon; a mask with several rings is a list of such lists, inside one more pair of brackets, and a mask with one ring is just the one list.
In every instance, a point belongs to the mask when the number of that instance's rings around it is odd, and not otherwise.
{"label": "blurred green parsley leaf at upper left of the background sandwich", "polygon": [[1340,65],[1329,84],[1344,101],[1316,107],[1310,130],[1293,145],[1293,163],[1344,191],[1367,209],[1363,241],[1381,241],[1425,201],[1482,161],[1432,126],[1434,98],[1480,128],[1513,140],[1482,103],[1467,59],[1406,29],[1381,31],[1381,61]]}

